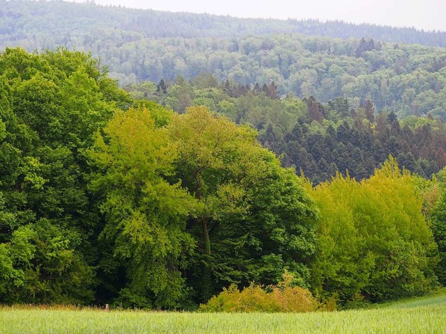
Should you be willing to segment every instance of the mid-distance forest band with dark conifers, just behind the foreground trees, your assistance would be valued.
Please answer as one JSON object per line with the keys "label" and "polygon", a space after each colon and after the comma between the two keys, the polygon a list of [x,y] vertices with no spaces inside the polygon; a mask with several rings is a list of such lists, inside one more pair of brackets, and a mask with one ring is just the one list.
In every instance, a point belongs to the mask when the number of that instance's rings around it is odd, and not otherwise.
{"label": "mid-distance forest band with dark conifers, just behind the foreground trees", "polygon": [[125,87],[132,97],[154,100],[178,113],[204,105],[234,122],[259,131],[259,141],[283,166],[293,166],[314,184],[330,180],[337,171],[362,180],[389,155],[413,173],[430,177],[446,166],[446,125],[443,120],[409,116],[399,120],[393,111],[378,113],[373,101],[337,97],[322,104],[294,95],[279,99],[277,86],[253,88],[231,81],[217,82],[201,73],[192,81],[172,84],[148,81]]}

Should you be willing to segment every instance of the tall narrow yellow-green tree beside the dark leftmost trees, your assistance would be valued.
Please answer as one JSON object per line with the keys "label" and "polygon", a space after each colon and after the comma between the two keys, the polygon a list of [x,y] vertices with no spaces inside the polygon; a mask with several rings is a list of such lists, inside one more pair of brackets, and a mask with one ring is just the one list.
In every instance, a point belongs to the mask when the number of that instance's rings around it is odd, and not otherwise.
{"label": "tall narrow yellow-green tree beside the dark leftmost trees", "polygon": [[178,152],[155,124],[159,115],[156,106],[116,112],[89,150],[97,167],[91,189],[102,194],[106,220],[101,236],[112,241],[127,271],[119,300],[139,308],[178,306],[181,269],[194,248],[184,231],[194,203],[180,183],[167,181]]}

